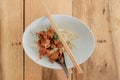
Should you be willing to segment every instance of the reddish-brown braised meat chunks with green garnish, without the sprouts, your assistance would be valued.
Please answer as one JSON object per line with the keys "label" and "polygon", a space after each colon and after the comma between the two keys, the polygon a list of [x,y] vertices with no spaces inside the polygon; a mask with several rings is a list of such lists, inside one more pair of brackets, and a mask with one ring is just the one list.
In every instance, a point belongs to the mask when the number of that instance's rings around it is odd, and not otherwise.
{"label": "reddish-brown braised meat chunks with green garnish, without the sprouts", "polygon": [[63,44],[52,28],[48,28],[46,31],[37,32],[36,34],[39,38],[37,43],[39,46],[40,59],[43,56],[48,56],[49,61],[54,63],[55,60],[62,57],[64,51]]}

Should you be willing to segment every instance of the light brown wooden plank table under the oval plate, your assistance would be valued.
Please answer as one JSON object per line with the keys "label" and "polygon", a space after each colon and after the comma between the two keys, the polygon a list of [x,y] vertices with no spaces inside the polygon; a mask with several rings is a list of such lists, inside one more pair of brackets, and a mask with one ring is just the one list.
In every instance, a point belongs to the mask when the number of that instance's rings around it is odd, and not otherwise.
{"label": "light brown wooden plank table under the oval plate", "polygon": [[[95,35],[93,55],[70,69],[71,80],[119,80],[120,0],[45,0],[52,14],[84,21]],[[22,35],[35,19],[44,16],[41,0],[0,0],[0,80],[68,80],[63,70],[34,63],[22,47]]]}

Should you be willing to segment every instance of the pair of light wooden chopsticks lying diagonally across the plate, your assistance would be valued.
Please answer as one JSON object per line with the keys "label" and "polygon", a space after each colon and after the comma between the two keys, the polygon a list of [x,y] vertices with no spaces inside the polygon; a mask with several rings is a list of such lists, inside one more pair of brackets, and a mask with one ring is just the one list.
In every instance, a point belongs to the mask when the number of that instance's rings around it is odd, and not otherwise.
{"label": "pair of light wooden chopsticks lying diagonally across the plate", "polygon": [[50,23],[51,23],[51,25],[52,25],[52,28],[55,30],[55,32],[57,33],[57,35],[58,35],[58,37],[60,38],[61,42],[63,43],[63,46],[64,46],[64,48],[65,48],[68,56],[70,57],[72,63],[73,63],[74,66],[76,67],[78,73],[83,73],[83,72],[82,72],[82,69],[80,68],[80,66],[79,66],[79,64],[77,63],[76,59],[75,59],[74,56],[72,55],[72,52],[71,52],[69,46],[67,45],[67,43],[66,43],[66,42],[64,41],[64,39],[62,38],[62,35],[61,35],[61,33],[59,32],[59,30],[58,30],[58,28],[57,28],[57,25],[55,24],[53,18],[51,17],[50,11],[49,11],[49,9],[47,8],[45,2],[44,2],[43,0],[41,0],[41,1],[42,1],[42,4],[43,4],[43,6],[44,6],[44,8],[45,8],[45,10],[46,10],[46,15],[47,15],[47,17],[48,17],[48,19],[49,19],[49,21],[50,21]]}

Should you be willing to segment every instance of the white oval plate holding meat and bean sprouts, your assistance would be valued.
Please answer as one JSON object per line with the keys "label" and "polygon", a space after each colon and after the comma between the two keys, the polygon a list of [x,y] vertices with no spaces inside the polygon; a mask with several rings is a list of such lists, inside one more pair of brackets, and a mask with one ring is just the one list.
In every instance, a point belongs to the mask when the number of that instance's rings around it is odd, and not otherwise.
{"label": "white oval plate holding meat and bean sprouts", "polygon": [[[53,15],[52,17],[58,27],[79,35],[78,39],[74,41],[77,46],[72,48],[72,53],[79,64],[86,61],[94,50],[95,43],[92,31],[77,18],[66,15]],[[39,49],[34,46],[36,45],[36,32],[42,31],[48,26],[50,26],[50,23],[47,17],[41,17],[33,21],[24,32],[23,47],[26,54],[37,64],[48,68],[61,69],[59,64],[50,63],[47,57],[39,59]],[[74,66],[67,54],[65,54],[65,61],[68,68]]]}

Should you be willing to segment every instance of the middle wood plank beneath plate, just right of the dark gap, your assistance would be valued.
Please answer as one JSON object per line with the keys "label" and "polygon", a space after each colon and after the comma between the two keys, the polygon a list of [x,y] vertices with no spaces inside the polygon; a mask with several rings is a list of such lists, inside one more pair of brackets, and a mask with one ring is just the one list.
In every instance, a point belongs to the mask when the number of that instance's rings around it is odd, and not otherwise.
{"label": "middle wood plank beneath plate, just right of the dark gap", "polygon": [[[52,14],[72,15],[72,0],[46,0]],[[62,7],[61,7],[62,6]],[[40,0],[25,0],[25,26],[44,16]],[[48,74],[49,73],[49,74]],[[59,75],[60,73],[60,75]],[[67,80],[62,70],[41,67],[25,56],[25,80]]]}

